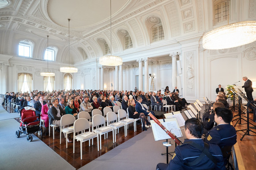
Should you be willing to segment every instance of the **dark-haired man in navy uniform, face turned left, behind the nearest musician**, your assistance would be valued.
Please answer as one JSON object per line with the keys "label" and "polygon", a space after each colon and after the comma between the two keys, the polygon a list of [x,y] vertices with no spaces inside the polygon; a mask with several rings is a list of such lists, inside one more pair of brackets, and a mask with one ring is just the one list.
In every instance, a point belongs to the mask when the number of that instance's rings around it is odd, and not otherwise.
{"label": "dark-haired man in navy uniform, face turned left, behind the nearest musician", "polygon": [[232,146],[237,142],[236,129],[230,125],[233,119],[233,113],[227,108],[215,109],[215,122],[218,124],[212,128],[205,136],[205,142],[217,144],[220,148]]}

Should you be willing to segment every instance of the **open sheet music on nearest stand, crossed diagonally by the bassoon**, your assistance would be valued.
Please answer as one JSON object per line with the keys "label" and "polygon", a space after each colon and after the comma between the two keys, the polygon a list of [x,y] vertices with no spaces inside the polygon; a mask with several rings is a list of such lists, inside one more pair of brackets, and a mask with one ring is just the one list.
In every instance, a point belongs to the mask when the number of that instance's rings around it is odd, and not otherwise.
{"label": "open sheet music on nearest stand, crossed diagonally by the bassoon", "polygon": [[[165,119],[166,122],[163,122],[163,119],[159,119],[159,121],[171,133],[175,134],[177,137],[183,137],[176,118]],[[155,141],[171,138],[157,123],[154,122],[154,120],[151,120],[151,127],[153,130]]]}

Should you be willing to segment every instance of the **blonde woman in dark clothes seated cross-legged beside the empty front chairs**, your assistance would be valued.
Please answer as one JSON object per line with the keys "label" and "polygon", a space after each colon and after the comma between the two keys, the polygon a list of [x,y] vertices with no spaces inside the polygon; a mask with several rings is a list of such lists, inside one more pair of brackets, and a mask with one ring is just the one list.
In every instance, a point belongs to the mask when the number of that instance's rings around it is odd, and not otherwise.
{"label": "blonde woman in dark clothes seated cross-legged beside the empty front chairs", "polygon": [[129,107],[128,107],[129,118],[132,118],[132,119],[141,118],[142,124],[143,124],[142,130],[147,130],[146,126],[145,126],[145,122],[147,123],[147,126],[151,125],[151,123],[146,119],[144,113],[136,112],[135,100],[133,98],[131,100],[129,100],[128,105],[129,105]]}

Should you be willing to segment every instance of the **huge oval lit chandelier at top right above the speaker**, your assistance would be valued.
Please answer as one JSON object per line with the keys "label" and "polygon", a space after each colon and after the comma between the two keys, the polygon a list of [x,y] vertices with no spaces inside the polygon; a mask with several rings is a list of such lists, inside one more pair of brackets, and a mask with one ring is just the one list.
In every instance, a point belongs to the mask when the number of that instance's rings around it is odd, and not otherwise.
{"label": "huge oval lit chandelier at top right above the speaker", "polygon": [[[228,1],[229,5],[229,1]],[[229,8],[228,8],[228,11]],[[256,41],[256,21],[244,21],[213,29],[203,36],[203,48],[219,50],[238,47]]]}

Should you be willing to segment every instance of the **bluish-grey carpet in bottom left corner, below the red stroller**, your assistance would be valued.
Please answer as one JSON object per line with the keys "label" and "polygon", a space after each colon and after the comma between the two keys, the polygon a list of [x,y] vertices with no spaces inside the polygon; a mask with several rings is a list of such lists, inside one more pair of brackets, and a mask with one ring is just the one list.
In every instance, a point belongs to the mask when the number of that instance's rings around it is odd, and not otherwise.
{"label": "bluish-grey carpet in bottom left corner, below the red stroller", "polygon": [[0,121],[0,170],[75,170],[34,134],[28,142],[26,134],[16,138],[16,130],[19,123],[15,119]]}

